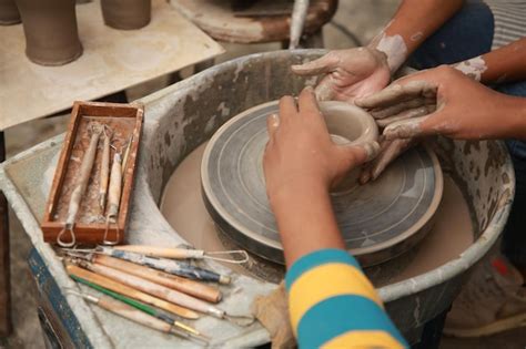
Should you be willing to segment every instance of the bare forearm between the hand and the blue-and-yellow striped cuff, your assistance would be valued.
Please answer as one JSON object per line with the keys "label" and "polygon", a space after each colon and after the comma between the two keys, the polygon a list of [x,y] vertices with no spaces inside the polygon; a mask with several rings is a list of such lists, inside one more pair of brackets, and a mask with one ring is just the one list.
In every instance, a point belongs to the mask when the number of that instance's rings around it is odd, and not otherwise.
{"label": "bare forearm between the hand and the blue-and-yellow striped cuff", "polygon": [[295,181],[271,196],[271,206],[289,267],[314,250],[345,248],[328,192],[322,183]]}

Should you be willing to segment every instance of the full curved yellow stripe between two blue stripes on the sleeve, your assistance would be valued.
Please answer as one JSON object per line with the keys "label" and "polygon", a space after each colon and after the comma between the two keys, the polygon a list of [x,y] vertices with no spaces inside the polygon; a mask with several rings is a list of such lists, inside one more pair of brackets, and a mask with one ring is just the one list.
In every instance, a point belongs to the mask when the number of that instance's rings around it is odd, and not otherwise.
{"label": "full curved yellow stripe between two blue stripes on the sleeve", "polygon": [[305,312],[320,301],[341,295],[363,296],[383,307],[376,290],[357,268],[330,263],[304,273],[291,287],[289,307],[294,333]]}

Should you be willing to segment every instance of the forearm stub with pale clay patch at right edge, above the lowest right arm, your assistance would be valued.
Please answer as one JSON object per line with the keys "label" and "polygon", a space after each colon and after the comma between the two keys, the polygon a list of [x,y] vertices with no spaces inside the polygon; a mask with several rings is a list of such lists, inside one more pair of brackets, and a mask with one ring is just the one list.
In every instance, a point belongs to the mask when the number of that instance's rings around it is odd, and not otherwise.
{"label": "forearm stub with pale clay patch at right edge, above the lowest right arm", "polygon": [[454,64],[471,78],[484,82],[508,82],[526,79],[526,38],[495,51]]}

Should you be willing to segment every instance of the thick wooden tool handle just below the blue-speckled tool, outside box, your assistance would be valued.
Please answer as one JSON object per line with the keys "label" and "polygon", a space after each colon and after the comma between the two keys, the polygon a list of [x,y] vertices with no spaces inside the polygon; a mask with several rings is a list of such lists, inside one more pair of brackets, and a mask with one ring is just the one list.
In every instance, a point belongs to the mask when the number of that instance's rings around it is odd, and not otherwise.
{"label": "thick wooden tool handle just below the blue-speckled tool, outside box", "polygon": [[210,302],[219,302],[221,300],[221,291],[205,284],[190,280],[176,275],[159,271],[145,266],[136,265],[119,258],[105,255],[93,254],[91,261],[110,268],[114,268],[149,281],[175,289],[186,295],[208,300]]}

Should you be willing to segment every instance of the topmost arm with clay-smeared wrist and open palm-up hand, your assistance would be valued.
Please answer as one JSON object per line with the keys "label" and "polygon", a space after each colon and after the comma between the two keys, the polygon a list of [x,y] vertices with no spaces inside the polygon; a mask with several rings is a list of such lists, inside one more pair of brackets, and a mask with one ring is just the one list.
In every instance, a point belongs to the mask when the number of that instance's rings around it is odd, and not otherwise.
{"label": "topmost arm with clay-smeared wrist and open palm-up hand", "polygon": [[391,75],[436,29],[462,7],[463,0],[404,0],[393,20],[364,48],[331,51],[304,64],[299,75],[325,76],[315,88],[318,100],[353,102],[377,92]]}

